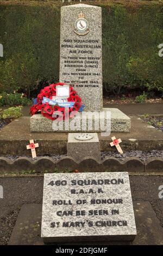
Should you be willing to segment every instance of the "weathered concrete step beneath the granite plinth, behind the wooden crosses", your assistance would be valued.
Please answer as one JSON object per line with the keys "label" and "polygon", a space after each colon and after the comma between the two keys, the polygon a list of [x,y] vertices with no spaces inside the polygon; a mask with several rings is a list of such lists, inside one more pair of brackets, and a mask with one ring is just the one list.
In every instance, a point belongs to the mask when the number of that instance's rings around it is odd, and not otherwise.
{"label": "weathered concrete step beneath the granite plinth, behind the wooden crosses", "polygon": [[[111,133],[110,136],[101,136],[98,133],[101,151],[116,151],[110,147],[112,136],[121,138],[123,152],[129,150],[163,149],[163,132],[156,130],[136,116],[131,116],[130,133]],[[26,149],[29,140],[39,143],[36,149],[37,156],[67,154],[68,133],[66,132],[30,132],[30,118],[21,117],[12,121],[0,130],[0,156],[23,155],[30,156]],[[131,139],[131,140],[130,140]]]}

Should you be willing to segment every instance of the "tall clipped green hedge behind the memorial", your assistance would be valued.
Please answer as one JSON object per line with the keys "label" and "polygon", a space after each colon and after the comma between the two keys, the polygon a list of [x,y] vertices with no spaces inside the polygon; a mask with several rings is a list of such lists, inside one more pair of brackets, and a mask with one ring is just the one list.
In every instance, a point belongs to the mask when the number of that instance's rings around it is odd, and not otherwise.
{"label": "tall clipped green hedge behind the memorial", "polygon": [[[0,2],[0,93],[30,96],[41,81],[58,81],[61,5]],[[137,87],[162,92],[163,2],[108,1],[101,7],[104,86],[115,93]]]}

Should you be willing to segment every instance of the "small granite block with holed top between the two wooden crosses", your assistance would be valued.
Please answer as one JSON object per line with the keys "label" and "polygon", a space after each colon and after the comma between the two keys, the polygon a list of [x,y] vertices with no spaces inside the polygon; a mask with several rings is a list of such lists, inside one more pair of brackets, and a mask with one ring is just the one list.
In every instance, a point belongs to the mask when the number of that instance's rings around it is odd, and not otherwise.
{"label": "small granite block with holed top between the two wooden crosses", "polygon": [[89,133],[93,136],[89,141],[77,141],[74,138],[78,133],[68,133],[67,156],[73,157],[76,161],[82,161],[84,157],[92,156],[101,161],[101,151],[97,133]]}

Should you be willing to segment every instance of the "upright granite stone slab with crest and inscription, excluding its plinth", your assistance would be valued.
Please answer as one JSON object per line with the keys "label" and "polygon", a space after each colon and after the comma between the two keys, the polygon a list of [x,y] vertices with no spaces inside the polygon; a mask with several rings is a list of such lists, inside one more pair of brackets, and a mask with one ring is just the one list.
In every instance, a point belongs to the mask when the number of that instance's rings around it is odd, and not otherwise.
{"label": "upright granite stone slab with crest and inscription, excluding its plinth", "polygon": [[61,7],[60,82],[74,86],[82,97],[84,111],[102,109],[101,7]]}

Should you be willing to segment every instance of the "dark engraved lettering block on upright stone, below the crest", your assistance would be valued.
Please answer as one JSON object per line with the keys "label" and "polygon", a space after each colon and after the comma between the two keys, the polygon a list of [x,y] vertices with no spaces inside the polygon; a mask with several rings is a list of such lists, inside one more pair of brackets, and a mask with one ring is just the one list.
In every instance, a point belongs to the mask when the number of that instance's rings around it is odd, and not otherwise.
{"label": "dark engraved lettering block on upright stone, below the crest", "polygon": [[[65,68],[61,76],[70,77],[70,81],[64,82],[76,83],[76,87],[99,87],[98,80],[102,73],[99,72],[98,65],[101,57],[96,57],[93,52],[93,49],[101,49],[99,40],[64,39],[61,48],[67,49],[67,56],[61,55]],[[91,77],[91,80],[85,80],[85,76]],[[77,79],[74,80],[74,77]]]}

